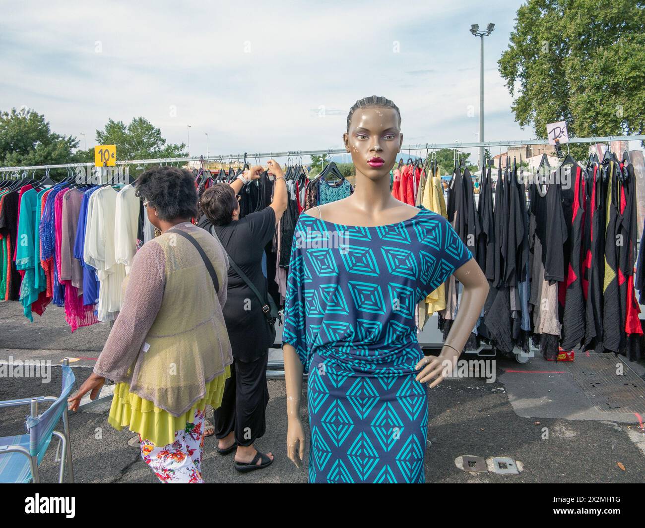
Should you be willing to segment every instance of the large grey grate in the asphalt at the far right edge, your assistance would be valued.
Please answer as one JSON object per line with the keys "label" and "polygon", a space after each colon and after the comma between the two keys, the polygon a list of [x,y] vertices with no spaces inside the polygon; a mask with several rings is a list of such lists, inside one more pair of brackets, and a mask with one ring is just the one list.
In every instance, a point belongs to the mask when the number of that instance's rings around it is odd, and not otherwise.
{"label": "large grey grate in the asphalt at the far right edge", "polygon": [[599,413],[639,413],[645,411],[645,381],[613,354],[576,354],[570,363],[571,375]]}

